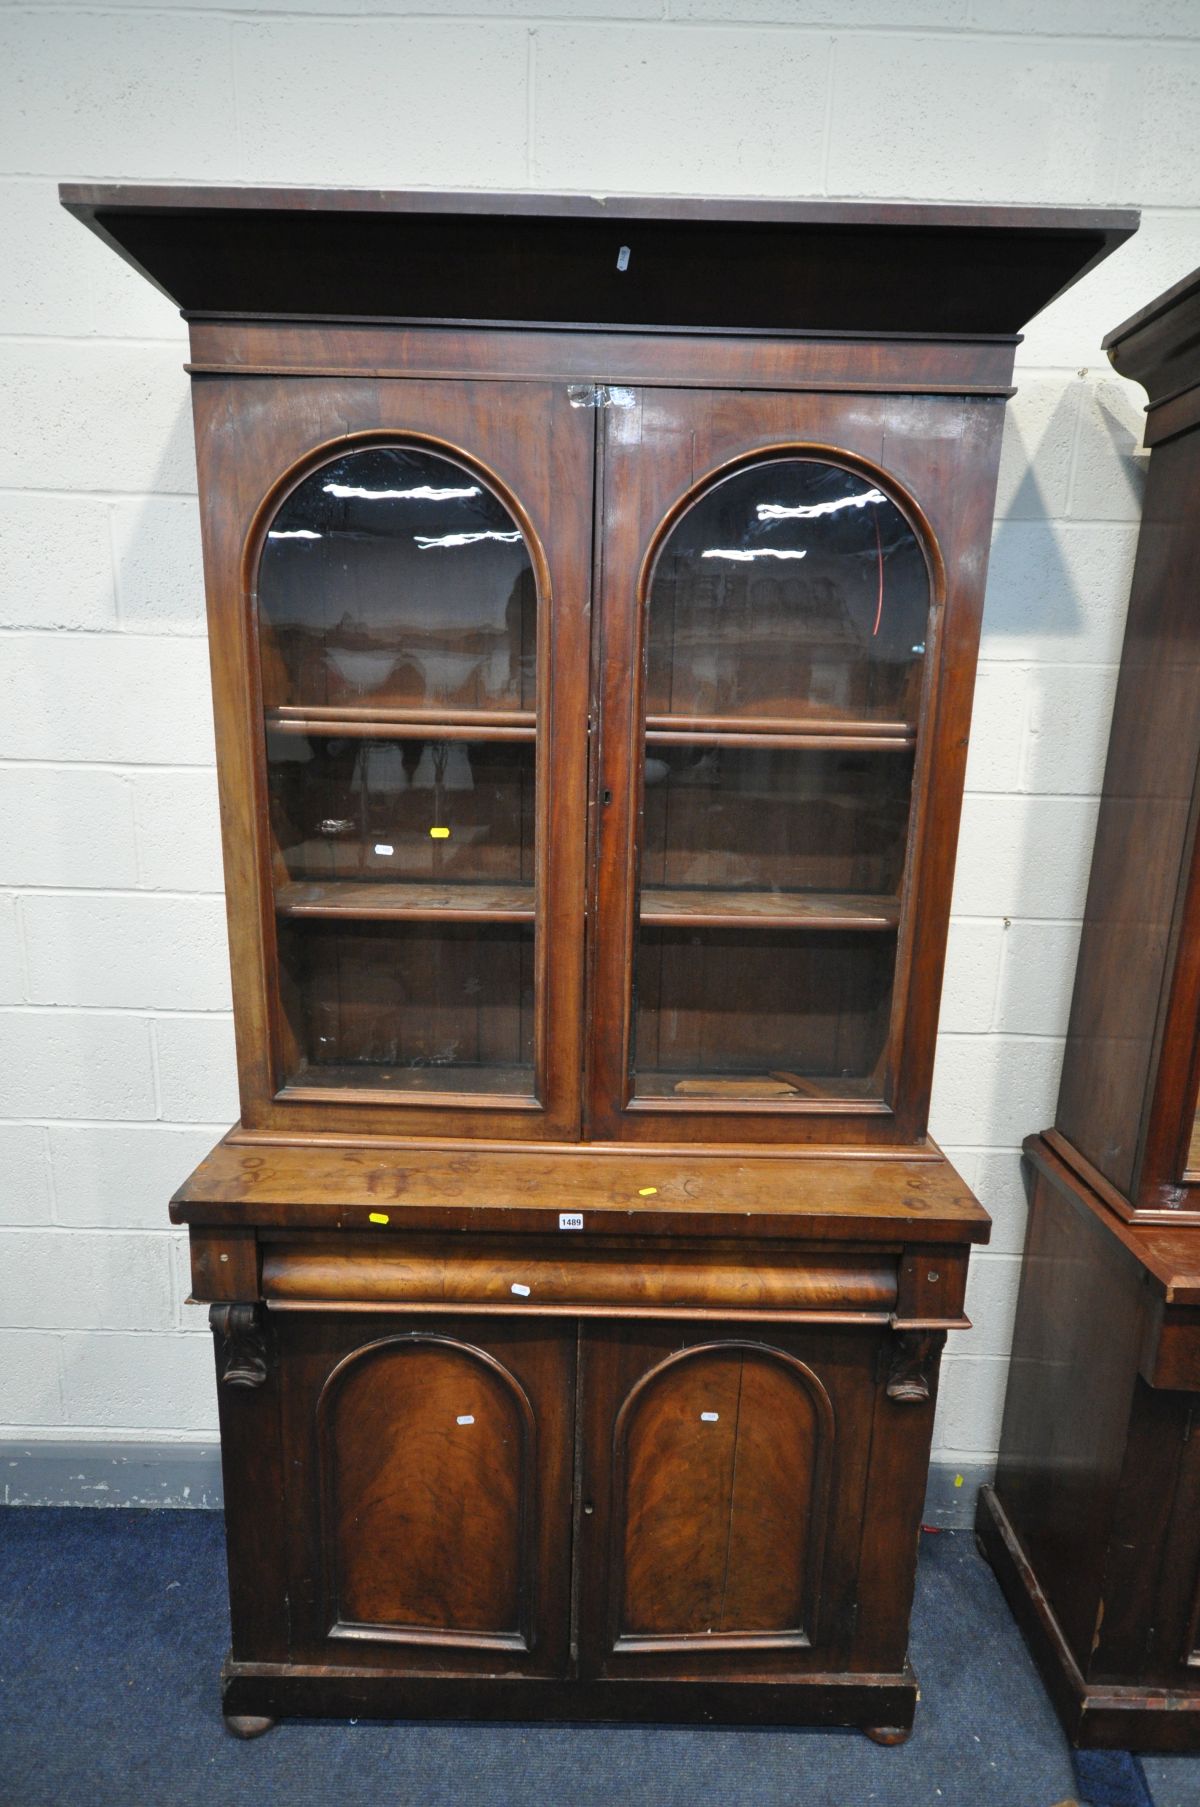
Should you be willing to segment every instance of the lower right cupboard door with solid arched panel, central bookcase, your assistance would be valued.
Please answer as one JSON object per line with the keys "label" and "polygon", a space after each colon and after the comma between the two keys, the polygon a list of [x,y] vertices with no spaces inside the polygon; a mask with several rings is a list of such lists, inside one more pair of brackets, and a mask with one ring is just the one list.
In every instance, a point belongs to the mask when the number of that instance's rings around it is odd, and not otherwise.
{"label": "lower right cupboard door with solid arched panel, central bookcase", "polygon": [[849,1661],[878,1332],[584,1332],[596,1675]]}

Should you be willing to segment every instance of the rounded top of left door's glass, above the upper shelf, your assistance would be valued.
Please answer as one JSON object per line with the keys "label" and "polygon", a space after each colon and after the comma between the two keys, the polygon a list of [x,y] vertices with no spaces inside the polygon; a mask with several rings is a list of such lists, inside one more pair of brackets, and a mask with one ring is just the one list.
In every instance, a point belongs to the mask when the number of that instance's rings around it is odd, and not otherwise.
{"label": "rounded top of left door's glass, above the upper shelf", "polygon": [[374,446],[305,477],[267,531],[258,611],[267,707],[533,708],[524,537],[439,454]]}

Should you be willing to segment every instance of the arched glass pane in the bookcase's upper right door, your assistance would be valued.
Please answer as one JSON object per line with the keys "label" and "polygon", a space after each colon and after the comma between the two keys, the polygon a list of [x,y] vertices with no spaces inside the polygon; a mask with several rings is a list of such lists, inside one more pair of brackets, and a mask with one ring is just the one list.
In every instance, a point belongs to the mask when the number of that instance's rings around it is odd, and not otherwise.
{"label": "arched glass pane in the bookcase's upper right door", "polygon": [[929,566],[869,477],[772,457],[667,533],[645,614],[633,1086],[880,1099]]}

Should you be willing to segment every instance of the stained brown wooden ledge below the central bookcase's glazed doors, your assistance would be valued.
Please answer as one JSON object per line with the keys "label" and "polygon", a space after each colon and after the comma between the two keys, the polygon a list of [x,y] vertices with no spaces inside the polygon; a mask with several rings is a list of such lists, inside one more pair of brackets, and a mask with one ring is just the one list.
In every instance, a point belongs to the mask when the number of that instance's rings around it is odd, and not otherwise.
{"label": "stained brown wooden ledge below the central bookcase's glazed doors", "polygon": [[[235,1138],[233,1138],[235,1137]],[[558,1229],[642,1236],[987,1241],[945,1156],[591,1146],[284,1144],[226,1137],[172,1200],[177,1223]]]}

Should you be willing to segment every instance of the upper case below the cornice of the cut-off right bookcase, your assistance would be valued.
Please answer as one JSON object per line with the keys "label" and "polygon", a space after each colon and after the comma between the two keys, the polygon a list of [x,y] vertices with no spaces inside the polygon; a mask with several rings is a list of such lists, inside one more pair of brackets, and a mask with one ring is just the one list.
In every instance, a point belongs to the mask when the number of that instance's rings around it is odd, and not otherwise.
{"label": "upper case below the cornice of the cut-off right bookcase", "polygon": [[1195,1167],[1198,466],[1196,432],[1149,461],[1054,1119],[1135,1205],[1173,1211]]}

